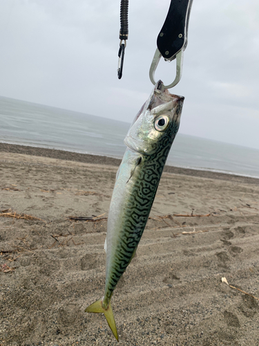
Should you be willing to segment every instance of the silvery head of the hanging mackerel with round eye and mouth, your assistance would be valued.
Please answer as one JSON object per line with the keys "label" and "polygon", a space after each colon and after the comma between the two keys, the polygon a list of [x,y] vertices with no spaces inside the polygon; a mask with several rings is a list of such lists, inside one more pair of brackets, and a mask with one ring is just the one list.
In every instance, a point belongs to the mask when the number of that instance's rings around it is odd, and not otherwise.
{"label": "silvery head of the hanging mackerel with round eye and mouth", "polygon": [[183,96],[173,95],[158,81],[135,116],[124,143],[135,152],[152,155],[173,143],[180,126]]}

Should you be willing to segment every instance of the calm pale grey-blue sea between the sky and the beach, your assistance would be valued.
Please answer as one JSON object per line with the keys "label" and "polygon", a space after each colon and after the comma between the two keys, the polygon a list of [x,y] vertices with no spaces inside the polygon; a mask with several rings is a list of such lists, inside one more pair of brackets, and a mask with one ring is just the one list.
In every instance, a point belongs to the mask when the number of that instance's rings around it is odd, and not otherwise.
{"label": "calm pale grey-blue sea between the sky and the beach", "polygon": [[[134,115],[133,115],[134,116]],[[122,158],[130,124],[0,96],[0,142]],[[167,165],[259,178],[259,150],[178,134]]]}

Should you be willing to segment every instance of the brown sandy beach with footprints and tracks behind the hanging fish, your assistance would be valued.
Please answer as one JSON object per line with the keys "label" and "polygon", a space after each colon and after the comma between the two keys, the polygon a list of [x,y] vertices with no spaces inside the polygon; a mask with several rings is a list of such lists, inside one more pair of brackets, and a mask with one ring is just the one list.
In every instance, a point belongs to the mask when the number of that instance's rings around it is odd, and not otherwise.
{"label": "brown sandy beach with footprints and tracks behind the hanging fish", "polygon": [[[1,346],[117,345],[84,309],[104,293],[118,164],[0,145],[0,212],[16,213],[0,217]],[[258,197],[257,179],[166,167],[113,296],[119,345],[259,345]],[[209,216],[173,216],[191,213]]]}

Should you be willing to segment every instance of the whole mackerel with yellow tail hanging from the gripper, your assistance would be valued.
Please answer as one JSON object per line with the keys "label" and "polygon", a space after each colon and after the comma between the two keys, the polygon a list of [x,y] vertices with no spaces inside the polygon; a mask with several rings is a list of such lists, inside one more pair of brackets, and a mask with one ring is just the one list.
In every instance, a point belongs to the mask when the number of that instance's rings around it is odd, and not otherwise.
{"label": "whole mackerel with yellow tail hanging from the gripper", "polygon": [[124,140],[126,152],[117,172],[108,213],[104,297],[86,308],[104,313],[118,341],[111,297],[133,259],[148,221],[166,158],[180,126],[184,97],[158,81],[133,120]]}

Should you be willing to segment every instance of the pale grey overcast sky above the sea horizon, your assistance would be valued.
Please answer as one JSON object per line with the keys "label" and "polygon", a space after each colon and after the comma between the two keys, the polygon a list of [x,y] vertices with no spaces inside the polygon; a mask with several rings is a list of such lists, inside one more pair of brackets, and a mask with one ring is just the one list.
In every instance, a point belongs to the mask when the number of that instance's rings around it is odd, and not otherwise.
{"label": "pale grey overcast sky above the sea horizon", "polygon": [[[117,79],[119,0],[0,0],[0,95],[131,122],[170,0],[129,0]],[[259,149],[259,1],[193,0],[180,132]],[[155,74],[169,84],[175,62]]]}

